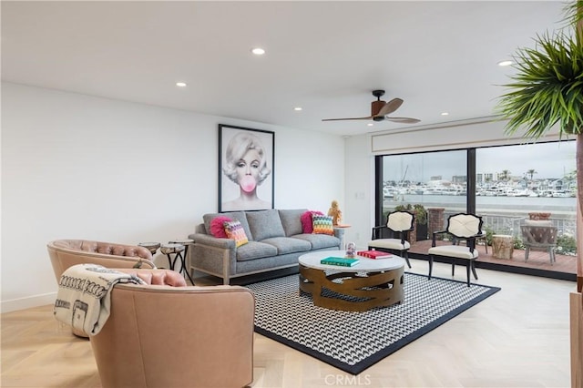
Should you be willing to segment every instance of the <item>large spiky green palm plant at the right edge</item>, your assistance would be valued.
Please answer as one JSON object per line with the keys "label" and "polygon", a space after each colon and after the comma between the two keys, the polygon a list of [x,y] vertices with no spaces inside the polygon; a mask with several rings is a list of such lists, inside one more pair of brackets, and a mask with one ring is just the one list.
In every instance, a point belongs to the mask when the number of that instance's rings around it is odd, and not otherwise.
{"label": "large spiky green palm plant at the right edge", "polygon": [[[561,138],[577,138],[578,217],[583,210],[583,0],[566,7],[568,26],[535,38],[534,48],[519,48],[517,72],[505,85],[497,111],[507,119],[506,134],[525,131],[536,141],[557,126]],[[580,233],[579,240],[580,240]],[[578,250],[578,291],[583,286]]]}

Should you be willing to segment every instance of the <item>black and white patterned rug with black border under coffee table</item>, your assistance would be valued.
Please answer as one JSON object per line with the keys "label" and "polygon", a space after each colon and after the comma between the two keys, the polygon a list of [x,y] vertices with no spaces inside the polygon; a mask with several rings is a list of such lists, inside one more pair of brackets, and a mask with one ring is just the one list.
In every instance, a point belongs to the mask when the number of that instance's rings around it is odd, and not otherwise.
{"label": "black and white patterned rug with black border under coffee table", "polygon": [[291,275],[246,286],[256,298],[255,332],[353,374],[500,291],[405,272],[401,304],[353,312],[314,306],[298,282]]}

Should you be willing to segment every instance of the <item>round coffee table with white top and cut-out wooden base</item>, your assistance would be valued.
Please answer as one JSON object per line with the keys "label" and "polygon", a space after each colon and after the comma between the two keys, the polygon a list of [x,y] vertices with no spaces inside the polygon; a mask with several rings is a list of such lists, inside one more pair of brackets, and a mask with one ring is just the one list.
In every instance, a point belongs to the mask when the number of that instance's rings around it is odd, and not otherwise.
{"label": "round coffee table with white top and cut-out wooden base", "polygon": [[300,256],[300,294],[312,294],[316,306],[343,311],[367,311],[403,301],[403,258],[356,256],[360,261],[353,267],[320,263],[327,257],[344,255],[344,250],[322,250]]}

